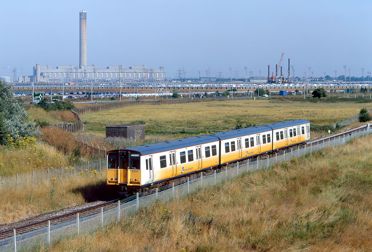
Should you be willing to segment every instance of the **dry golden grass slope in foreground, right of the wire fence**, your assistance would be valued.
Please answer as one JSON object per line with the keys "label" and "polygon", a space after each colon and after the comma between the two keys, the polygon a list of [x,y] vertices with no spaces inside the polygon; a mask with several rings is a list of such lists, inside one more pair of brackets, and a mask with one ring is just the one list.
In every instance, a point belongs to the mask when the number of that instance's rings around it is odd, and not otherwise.
{"label": "dry golden grass slope in foreground, right of the wire fence", "polygon": [[37,250],[372,251],[371,167],[366,136]]}

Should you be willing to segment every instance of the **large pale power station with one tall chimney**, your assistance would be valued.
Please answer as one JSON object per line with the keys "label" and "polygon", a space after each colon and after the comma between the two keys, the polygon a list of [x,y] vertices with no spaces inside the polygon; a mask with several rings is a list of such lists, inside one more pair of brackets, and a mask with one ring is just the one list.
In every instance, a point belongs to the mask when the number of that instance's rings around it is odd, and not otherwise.
{"label": "large pale power station with one tall chimney", "polygon": [[79,13],[79,66],[51,66],[36,64],[33,75],[21,75],[18,82],[159,82],[167,78],[164,68],[148,69],[147,66],[108,66],[98,68],[87,65],[87,12]]}

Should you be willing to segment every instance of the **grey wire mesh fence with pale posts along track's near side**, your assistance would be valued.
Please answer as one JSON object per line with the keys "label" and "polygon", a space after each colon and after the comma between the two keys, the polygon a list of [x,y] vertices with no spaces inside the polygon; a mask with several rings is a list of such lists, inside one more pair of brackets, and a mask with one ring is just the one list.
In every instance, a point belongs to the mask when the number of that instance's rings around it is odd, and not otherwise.
{"label": "grey wire mesh fence with pale posts along track's near side", "polygon": [[[183,197],[198,189],[214,186],[237,176],[255,172],[260,169],[268,169],[276,163],[284,163],[307,153],[321,150],[327,147],[343,145],[349,140],[371,134],[372,129],[368,124],[365,128],[354,133],[335,136],[307,145],[298,146],[288,150],[282,150],[263,157],[254,157],[240,162],[232,163],[217,170],[207,170],[201,173],[186,177],[176,183],[155,188],[144,193],[137,193],[122,201],[105,205],[89,212],[77,213],[63,219],[46,221],[39,224],[37,229],[28,227],[26,230],[13,229],[0,237],[0,251],[22,251],[31,249],[37,244],[57,242],[58,240],[72,235],[87,235],[95,230],[120,221],[126,216],[135,213],[139,208],[153,205],[158,200],[167,202],[172,199]],[[285,163],[283,164],[285,165]],[[27,232],[25,232],[27,231]],[[22,234],[17,234],[22,233]]]}

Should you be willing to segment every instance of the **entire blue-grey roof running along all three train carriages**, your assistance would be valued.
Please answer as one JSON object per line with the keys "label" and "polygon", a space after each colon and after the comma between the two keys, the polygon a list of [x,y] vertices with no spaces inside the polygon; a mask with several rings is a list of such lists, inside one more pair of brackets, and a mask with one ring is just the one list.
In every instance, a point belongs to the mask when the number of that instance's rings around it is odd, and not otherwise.
{"label": "entire blue-grey roof running along all three train carriages", "polygon": [[166,152],[166,151],[171,151],[174,149],[181,149],[181,148],[186,148],[190,146],[197,146],[197,145],[202,145],[205,143],[216,142],[219,139],[225,140],[225,139],[230,139],[234,137],[258,134],[261,132],[269,131],[271,129],[274,129],[274,130],[282,129],[283,127],[291,127],[291,126],[301,125],[305,123],[310,123],[310,122],[308,120],[302,120],[302,119],[288,120],[284,122],[269,123],[265,125],[253,126],[253,127],[241,128],[241,129],[233,129],[233,130],[227,130],[227,131],[218,132],[218,133],[212,133],[208,135],[192,136],[192,137],[186,137],[182,139],[170,140],[167,142],[151,143],[148,145],[140,145],[140,146],[134,146],[134,147],[124,148],[124,149],[110,150],[110,151],[124,151],[124,150],[133,151],[133,152],[139,152],[141,156],[145,156],[145,155],[151,155],[151,154],[158,153],[158,152]]}

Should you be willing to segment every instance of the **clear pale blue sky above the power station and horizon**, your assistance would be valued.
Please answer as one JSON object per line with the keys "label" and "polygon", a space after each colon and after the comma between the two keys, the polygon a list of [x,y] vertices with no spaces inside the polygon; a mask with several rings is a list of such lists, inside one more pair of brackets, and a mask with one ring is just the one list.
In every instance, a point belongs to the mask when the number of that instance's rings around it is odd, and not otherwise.
{"label": "clear pale blue sky above the power station and horizon", "polygon": [[[87,63],[164,66],[168,77],[267,76],[284,54],[295,75],[372,72],[372,1],[2,1],[0,66],[79,63],[79,11],[87,11]],[[194,69],[194,70],[193,70]],[[349,71],[347,71],[347,76]],[[249,73],[248,73],[249,76]]]}

